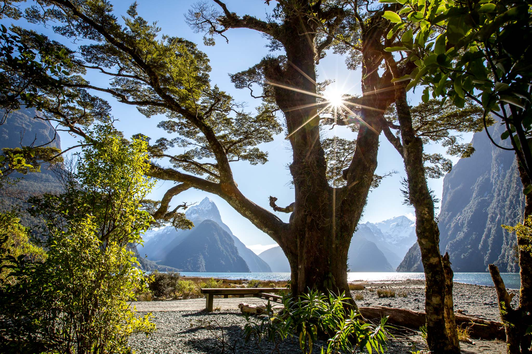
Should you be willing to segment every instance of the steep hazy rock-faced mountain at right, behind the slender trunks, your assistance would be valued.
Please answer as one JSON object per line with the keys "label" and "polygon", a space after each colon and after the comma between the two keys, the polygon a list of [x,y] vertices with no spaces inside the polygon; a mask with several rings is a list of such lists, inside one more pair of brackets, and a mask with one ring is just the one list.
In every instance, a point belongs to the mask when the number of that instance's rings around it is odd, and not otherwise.
{"label": "steep hazy rock-faced mountain at right, behind the slender trunks", "polygon": [[[488,128],[500,145],[504,126]],[[486,132],[473,135],[475,153],[460,159],[443,180],[442,209],[438,216],[440,250],[448,252],[455,272],[485,272],[490,263],[502,272],[517,272],[515,235],[501,225],[522,221],[524,198],[511,151],[497,148]],[[414,244],[397,271],[420,271],[421,253]]]}

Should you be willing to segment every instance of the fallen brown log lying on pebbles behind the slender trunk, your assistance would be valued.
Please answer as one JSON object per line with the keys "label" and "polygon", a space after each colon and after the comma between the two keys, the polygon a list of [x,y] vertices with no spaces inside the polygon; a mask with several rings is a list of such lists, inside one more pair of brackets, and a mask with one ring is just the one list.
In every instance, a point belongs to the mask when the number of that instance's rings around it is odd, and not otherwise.
{"label": "fallen brown log lying on pebbles behind the slender trunk", "polygon": [[[359,307],[360,314],[365,318],[388,318],[389,324],[419,329],[425,324],[425,313],[387,306]],[[472,338],[506,340],[502,322],[481,320],[473,316],[454,314],[456,325],[468,327]]]}

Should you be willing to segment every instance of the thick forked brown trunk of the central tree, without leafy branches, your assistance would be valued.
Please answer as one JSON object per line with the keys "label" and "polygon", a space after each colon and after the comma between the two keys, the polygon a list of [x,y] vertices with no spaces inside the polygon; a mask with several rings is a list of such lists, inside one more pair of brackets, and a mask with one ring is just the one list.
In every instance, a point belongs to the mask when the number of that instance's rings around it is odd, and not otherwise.
{"label": "thick forked brown trunk of the central tree, without leafy branches", "polygon": [[[299,24],[301,19],[294,22]],[[309,39],[301,40],[299,33],[305,33]],[[317,289],[325,293],[344,292],[351,297],[347,251],[377,167],[378,117],[373,111],[368,113],[367,126],[359,131],[353,168],[345,174],[347,186],[331,187],[326,177],[320,117],[315,105],[314,35],[304,28],[293,34],[295,38],[287,40],[291,45],[285,47],[290,65],[281,68],[274,59],[265,70],[269,81],[282,83],[275,87],[275,99],[284,111],[293,150],[290,173],[294,181],[294,211],[289,232],[280,237],[279,245],[290,263],[294,296]]]}

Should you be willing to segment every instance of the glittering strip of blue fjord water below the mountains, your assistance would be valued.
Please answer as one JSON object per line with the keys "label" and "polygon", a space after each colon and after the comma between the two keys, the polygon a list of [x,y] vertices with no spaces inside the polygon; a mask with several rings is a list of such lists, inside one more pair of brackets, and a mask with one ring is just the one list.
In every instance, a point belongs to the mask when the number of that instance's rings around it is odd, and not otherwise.
{"label": "glittering strip of blue fjord water below the mountains", "polygon": [[[257,280],[289,280],[290,273],[208,273],[208,272],[181,272],[184,277],[205,277],[225,279],[257,279]],[[519,273],[501,273],[506,288],[519,289]],[[398,272],[350,272],[347,273],[348,281],[402,281],[425,280],[425,273],[398,273]],[[454,281],[458,283],[493,286],[489,273],[454,273]]]}

